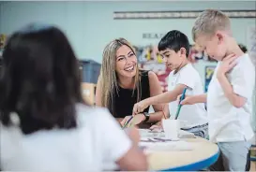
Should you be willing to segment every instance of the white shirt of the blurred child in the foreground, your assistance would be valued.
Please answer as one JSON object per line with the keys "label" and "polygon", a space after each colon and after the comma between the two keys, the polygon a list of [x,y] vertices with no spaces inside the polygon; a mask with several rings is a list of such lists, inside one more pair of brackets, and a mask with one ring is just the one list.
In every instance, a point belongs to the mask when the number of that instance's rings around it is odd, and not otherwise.
{"label": "white shirt of the blurred child in the foreground", "polygon": [[[10,171],[102,171],[131,148],[131,141],[103,108],[77,105],[78,127],[23,135],[1,126],[1,168]],[[107,161],[106,161],[107,160]]]}

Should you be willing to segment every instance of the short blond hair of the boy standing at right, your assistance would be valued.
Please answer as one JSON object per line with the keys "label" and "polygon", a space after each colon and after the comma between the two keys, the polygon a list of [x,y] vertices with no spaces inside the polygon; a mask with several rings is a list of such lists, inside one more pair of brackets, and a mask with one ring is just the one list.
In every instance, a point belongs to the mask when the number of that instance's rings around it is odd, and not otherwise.
{"label": "short blond hair of the boy standing at right", "polygon": [[213,36],[218,30],[231,30],[229,17],[219,10],[207,9],[197,17],[192,28],[192,37],[195,41],[199,35]]}

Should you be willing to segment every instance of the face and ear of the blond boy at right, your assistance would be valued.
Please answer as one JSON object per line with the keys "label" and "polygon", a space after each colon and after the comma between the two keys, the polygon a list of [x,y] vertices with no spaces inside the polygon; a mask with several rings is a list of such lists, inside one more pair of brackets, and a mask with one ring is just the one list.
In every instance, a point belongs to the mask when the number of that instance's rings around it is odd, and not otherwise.
{"label": "face and ear of the blond boy at right", "polygon": [[211,58],[217,61],[222,61],[227,52],[224,36],[218,32],[214,36],[199,35],[196,38],[196,44],[202,47]]}

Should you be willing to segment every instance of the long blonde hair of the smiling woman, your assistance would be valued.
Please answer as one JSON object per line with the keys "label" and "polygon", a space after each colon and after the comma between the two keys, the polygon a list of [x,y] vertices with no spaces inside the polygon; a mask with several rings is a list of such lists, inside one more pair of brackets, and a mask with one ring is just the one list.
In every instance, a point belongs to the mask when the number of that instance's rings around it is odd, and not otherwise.
{"label": "long blonde hair of the smiling woman", "polygon": [[[103,50],[103,60],[98,79],[101,89],[101,105],[109,108],[113,116],[115,115],[113,98],[115,93],[119,91],[118,77],[115,72],[116,51],[123,45],[128,46],[136,55],[134,48],[125,38],[114,39]],[[139,102],[141,100],[141,76],[138,65],[136,66],[134,83],[133,94],[137,90],[137,102]]]}

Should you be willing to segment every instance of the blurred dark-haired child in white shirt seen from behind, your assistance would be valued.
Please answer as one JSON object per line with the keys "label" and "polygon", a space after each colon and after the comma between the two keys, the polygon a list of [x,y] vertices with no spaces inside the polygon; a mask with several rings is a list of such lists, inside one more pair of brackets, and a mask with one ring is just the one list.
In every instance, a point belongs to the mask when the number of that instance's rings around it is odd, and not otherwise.
{"label": "blurred dark-haired child in white shirt seen from behind", "polygon": [[78,61],[59,29],[32,24],[10,36],[0,94],[2,170],[147,169],[109,112],[83,102]]}

